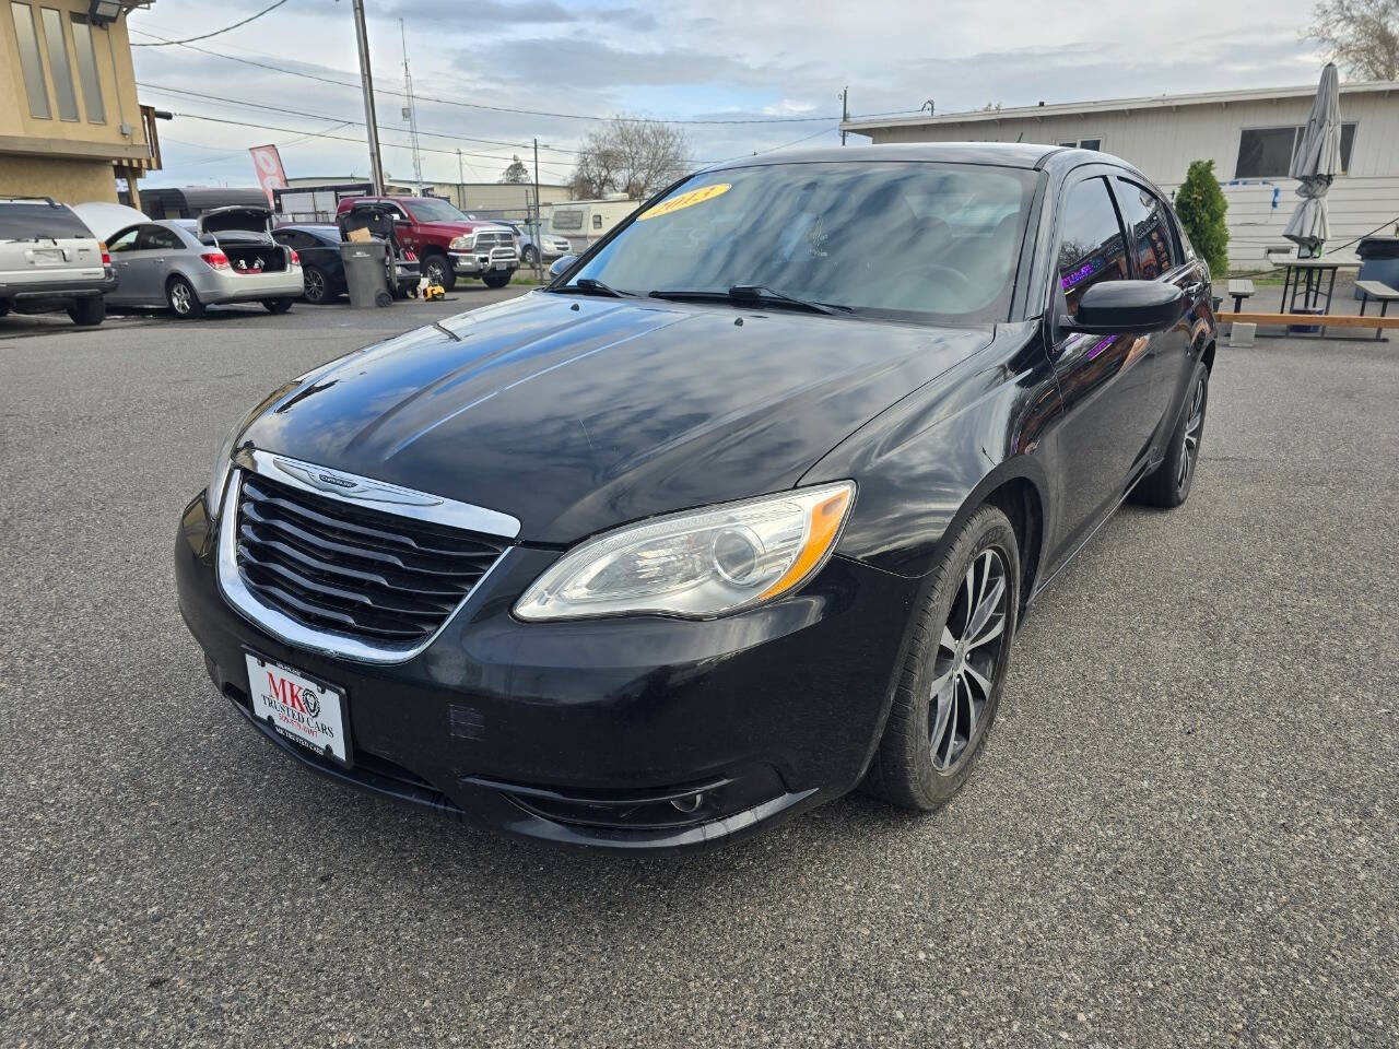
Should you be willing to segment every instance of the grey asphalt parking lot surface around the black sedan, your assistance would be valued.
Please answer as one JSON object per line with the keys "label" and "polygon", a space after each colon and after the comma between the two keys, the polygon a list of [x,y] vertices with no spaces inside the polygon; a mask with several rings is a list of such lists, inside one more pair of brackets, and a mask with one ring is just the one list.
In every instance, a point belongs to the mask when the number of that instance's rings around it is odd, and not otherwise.
{"label": "grey asphalt parking lot surface around the black sedan", "polygon": [[450,304],[0,319],[0,1046],[1392,1046],[1399,341],[1221,347],[1189,502],[1024,622],[985,759],[627,860],[322,782],[171,547],[283,379]]}

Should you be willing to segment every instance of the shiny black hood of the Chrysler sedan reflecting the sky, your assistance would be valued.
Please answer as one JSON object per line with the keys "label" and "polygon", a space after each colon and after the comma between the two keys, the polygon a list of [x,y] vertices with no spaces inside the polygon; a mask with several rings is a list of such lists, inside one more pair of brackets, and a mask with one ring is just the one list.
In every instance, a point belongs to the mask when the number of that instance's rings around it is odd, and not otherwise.
{"label": "shiny black hood of the Chrysler sedan reflecting the sky", "polygon": [[990,336],[533,292],[311,373],[242,443],[501,511],[520,538],[565,544],[790,488]]}

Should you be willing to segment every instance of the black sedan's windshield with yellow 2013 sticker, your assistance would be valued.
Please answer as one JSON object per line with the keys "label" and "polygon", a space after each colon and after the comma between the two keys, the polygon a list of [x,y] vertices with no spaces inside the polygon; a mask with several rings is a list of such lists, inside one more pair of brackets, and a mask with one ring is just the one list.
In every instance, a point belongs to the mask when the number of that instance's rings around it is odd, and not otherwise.
{"label": "black sedan's windshield with yellow 2013 sticker", "polygon": [[[967,164],[702,172],[569,278],[581,291],[825,304],[928,323],[1009,315],[1035,173]],[[754,288],[757,285],[757,288]],[[676,295],[683,298],[683,295]]]}

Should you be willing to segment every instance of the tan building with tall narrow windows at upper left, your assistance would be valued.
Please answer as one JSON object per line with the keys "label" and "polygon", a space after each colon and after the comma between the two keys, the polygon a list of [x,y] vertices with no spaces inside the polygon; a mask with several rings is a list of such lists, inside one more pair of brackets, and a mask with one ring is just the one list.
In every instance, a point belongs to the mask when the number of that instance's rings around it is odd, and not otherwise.
{"label": "tan building with tall narrow windows at upper left", "polygon": [[150,0],[0,0],[0,196],[116,200],[159,168],[126,14]]}

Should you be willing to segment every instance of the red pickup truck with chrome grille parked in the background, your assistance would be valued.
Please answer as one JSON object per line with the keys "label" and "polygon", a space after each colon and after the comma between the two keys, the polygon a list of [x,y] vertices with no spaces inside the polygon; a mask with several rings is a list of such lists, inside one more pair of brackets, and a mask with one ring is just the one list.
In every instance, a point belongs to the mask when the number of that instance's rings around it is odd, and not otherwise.
{"label": "red pickup truck with chrome grille parked in the background", "polygon": [[456,287],[457,277],[480,277],[488,288],[504,288],[519,269],[515,234],[498,222],[467,218],[442,197],[344,197],[336,215],[358,200],[383,203],[400,213],[399,243],[417,253],[424,277],[448,291]]}

